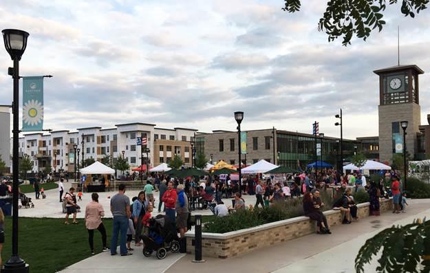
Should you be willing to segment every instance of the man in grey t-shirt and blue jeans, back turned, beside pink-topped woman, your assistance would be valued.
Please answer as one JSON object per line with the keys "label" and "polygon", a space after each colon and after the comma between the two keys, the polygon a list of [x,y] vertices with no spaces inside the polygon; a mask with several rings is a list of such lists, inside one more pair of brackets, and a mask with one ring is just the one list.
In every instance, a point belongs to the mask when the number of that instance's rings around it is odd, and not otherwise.
{"label": "man in grey t-shirt and blue jeans, back turned, beside pink-topped woman", "polygon": [[121,256],[131,255],[127,251],[127,230],[129,229],[130,199],[125,195],[125,184],[118,186],[118,193],[111,198],[111,212],[114,217],[112,224],[111,255],[116,255],[116,242],[120,235],[120,254]]}

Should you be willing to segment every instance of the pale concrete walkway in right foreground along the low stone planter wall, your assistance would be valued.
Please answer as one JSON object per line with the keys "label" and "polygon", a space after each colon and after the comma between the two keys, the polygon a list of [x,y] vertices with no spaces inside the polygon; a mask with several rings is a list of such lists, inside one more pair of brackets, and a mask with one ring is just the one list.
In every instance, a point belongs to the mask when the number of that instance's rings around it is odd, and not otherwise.
{"label": "pale concrete walkway in right foreground along the low stone planter wall", "polygon": [[232,259],[206,258],[206,263],[196,264],[191,262],[192,255],[186,255],[166,272],[355,272],[354,259],[365,240],[393,224],[430,217],[430,199],[409,201],[407,213],[385,212],[380,217],[366,217],[350,225],[334,226],[331,235],[310,234]]}

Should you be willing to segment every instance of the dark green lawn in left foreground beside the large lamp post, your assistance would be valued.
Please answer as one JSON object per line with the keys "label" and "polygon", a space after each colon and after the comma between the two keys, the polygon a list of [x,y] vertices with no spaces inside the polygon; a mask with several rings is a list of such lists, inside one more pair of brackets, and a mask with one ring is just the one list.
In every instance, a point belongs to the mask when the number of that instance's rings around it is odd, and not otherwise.
{"label": "dark green lawn in left foreground beside the large lamp post", "polygon": [[[64,219],[19,218],[19,254],[32,273],[51,273],[64,269],[89,256],[88,232],[82,219],[78,225],[64,225]],[[110,244],[112,221],[103,219]],[[3,263],[12,253],[12,218],[5,219]],[[101,252],[100,232],[94,232],[94,248]],[[138,254],[138,253],[136,253]]]}

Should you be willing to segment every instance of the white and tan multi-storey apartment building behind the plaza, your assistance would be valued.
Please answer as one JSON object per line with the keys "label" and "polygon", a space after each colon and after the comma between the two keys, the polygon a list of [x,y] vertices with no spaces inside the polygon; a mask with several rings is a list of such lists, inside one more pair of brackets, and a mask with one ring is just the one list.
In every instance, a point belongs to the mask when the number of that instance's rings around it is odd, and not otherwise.
{"label": "white and tan multi-storey apartment building behind the plaza", "polygon": [[[114,128],[78,128],[76,131],[51,131],[49,134],[28,133],[19,138],[19,155],[33,161],[32,172],[43,171],[50,165],[53,170],[74,171],[74,160],[82,162],[90,157],[101,161],[103,157],[114,159],[124,155],[131,168],[140,166],[140,149],[149,148],[148,159],[144,153],[143,162],[150,166],[170,162],[173,155],[182,157],[186,166],[191,166],[191,140],[197,130],[177,127],[157,128],[149,123],[116,124]],[[147,138],[147,144],[137,145],[137,138]],[[12,139],[10,140],[12,143]],[[79,152],[74,151],[74,144]],[[12,146],[12,145],[11,145]],[[165,151],[172,150],[172,151]],[[10,150],[12,153],[12,151]],[[79,157],[78,157],[79,155]]]}

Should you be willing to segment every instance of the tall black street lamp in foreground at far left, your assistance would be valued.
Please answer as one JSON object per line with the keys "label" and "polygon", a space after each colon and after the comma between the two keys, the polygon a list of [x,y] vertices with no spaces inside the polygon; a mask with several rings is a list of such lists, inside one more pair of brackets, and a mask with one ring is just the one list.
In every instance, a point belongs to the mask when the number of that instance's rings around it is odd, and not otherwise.
{"label": "tall black street lamp in foreground at far left", "polygon": [[12,256],[3,266],[2,272],[29,272],[30,266],[18,254],[18,198],[19,198],[19,61],[27,47],[28,32],[22,30],[2,30],[6,51],[14,61],[8,74],[13,78],[13,144],[12,144]]}

